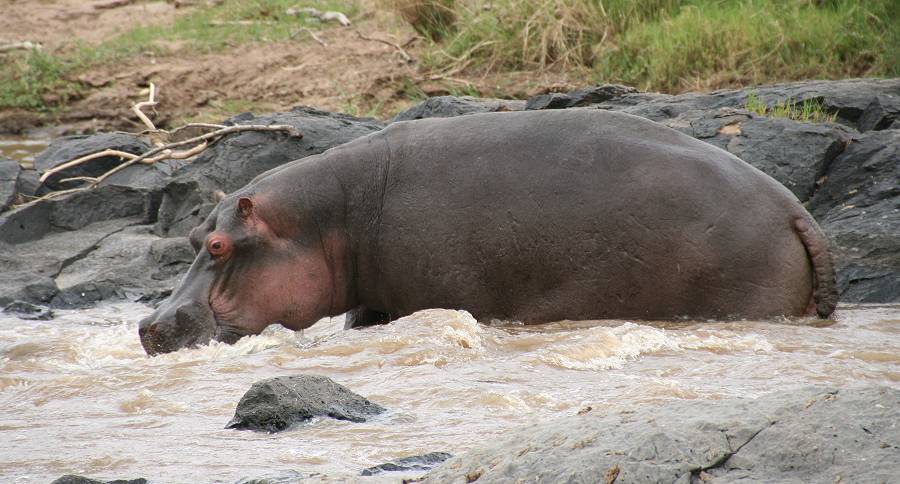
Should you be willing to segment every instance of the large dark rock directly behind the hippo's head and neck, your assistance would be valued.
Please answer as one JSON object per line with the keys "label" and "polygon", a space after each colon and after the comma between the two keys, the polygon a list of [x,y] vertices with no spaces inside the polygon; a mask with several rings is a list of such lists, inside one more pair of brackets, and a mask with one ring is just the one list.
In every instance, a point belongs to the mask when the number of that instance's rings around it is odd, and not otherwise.
{"label": "large dark rock directly behind the hippo's head and neck", "polygon": [[225,124],[289,124],[302,138],[280,132],[250,131],[220,140],[180,169],[163,190],[156,231],[187,235],[215,206],[213,192],[232,192],[259,174],[290,161],[322,153],[334,146],[380,130],[383,125],[307,107],[253,116],[243,113]]}

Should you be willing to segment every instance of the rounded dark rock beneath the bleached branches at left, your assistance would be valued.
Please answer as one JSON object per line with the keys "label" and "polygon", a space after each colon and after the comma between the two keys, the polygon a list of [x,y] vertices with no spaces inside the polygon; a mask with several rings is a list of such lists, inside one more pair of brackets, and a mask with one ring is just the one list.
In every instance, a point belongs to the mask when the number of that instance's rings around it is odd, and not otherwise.
{"label": "rounded dark rock beneath the bleached branches at left", "polygon": [[[106,149],[142,154],[150,149],[150,145],[137,136],[125,133],[66,136],[53,140],[47,149],[38,153],[34,158],[34,167],[40,172],[45,172],[68,161]],[[73,188],[71,183],[63,184],[60,180],[76,176],[99,176],[123,161],[118,156],[96,158],[50,176],[44,185],[54,190]]]}

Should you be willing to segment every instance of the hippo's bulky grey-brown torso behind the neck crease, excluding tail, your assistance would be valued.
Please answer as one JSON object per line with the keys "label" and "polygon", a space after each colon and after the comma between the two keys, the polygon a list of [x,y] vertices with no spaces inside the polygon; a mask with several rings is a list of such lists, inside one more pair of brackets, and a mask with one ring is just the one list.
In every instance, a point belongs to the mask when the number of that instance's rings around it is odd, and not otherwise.
{"label": "hippo's bulky grey-brown torso behind the neck crease, excluding tail", "polygon": [[793,195],[659,124],[489,113],[369,142],[385,158],[360,273],[369,307],[546,321],[799,314],[809,300]]}

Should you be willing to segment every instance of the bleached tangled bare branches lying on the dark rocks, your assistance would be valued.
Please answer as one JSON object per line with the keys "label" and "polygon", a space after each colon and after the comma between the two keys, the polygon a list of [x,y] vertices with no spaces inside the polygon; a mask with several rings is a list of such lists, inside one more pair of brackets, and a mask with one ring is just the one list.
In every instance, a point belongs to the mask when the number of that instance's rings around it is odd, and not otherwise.
{"label": "bleached tangled bare branches lying on the dark rocks", "polygon": [[[157,104],[156,86],[151,82],[150,83],[150,93],[149,93],[147,100],[139,102],[131,107],[132,112],[134,112],[134,114],[148,128],[147,130],[145,130],[141,133],[137,133],[137,134],[139,136],[147,136],[150,139],[150,142],[153,145],[153,148],[151,148],[150,150],[148,150],[145,153],[140,154],[140,155],[136,155],[136,154],[128,153],[125,151],[120,151],[120,150],[107,149],[107,150],[103,150],[103,151],[98,151],[96,153],[91,153],[91,154],[82,156],[80,158],[76,158],[74,160],[67,161],[56,167],[53,167],[52,169],[47,170],[46,172],[44,172],[41,175],[40,181],[42,183],[44,181],[46,181],[47,178],[49,178],[54,173],[58,173],[67,168],[71,168],[73,166],[77,166],[77,165],[86,163],[90,160],[94,160],[97,158],[102,158],[105,156],[118,156],[119,158],[126,160],[124,163],[115,166],[111,170],[109,170],[106,173],[103,173],[102,175],[97,176],[97,177],[82,176],[82,177],[65,178],[61,181],[62,182],[86,181],[88,183],[84,186],[80,186],[77,188],[71,188],[68,190],[59,190],[59,191],[50,192],[50,193],[36,199],[35,201],[48,199],[48,198],[55,198],[55,197],[59,197],[59,196],[65,195],[65,194],[74,193],[74,192],[78,192],[78,191],[90,190],[90,189],[96,187],[97,185],[99,185],[101,182],[103,182],[103,180],[106,180],[107,178],[112,176],[113,174],[118,173],[119,171],[122,171],[125,168],[128,168],[129,166],[134,165],[136,163],[153,164],[153,163],[156,163],[158,161],[163,161],[163,160],[186,160],[186,159],[192,158],[192,157],[200,154],[201,152],[203,152],[206,148],[208,148],[209,146],[211,146],[218,140],[222,139],[222,137],[227,136],[232,133],[240,133],[243,131],[284,131],[284,132],[288,133],[288,135],[290,135],[290,136],[294,136],[297,138],[303,137],[303,134],[300,133],[300,131],[298,131],[297,128],[290,126],[290,125],[284,125],[284,124],[273,124],[273,125],[239,124],[239,125],[225,126],[225,125],[221,125],[221,124],[189,123],[189,124],[186,124],[179,128],[173,129],[171,131],[159,129],[156,127],[156,125],[153,124],[153,122],[150,120],[150,118],[143,111],[144,108],[153,107],[153,106],[156,106],[156,104]],[[184,139],[184,140],[180,140],[180,141],[171,141],[177,133],[179,133],[185,129],[189,129],[189,128],[210,129],[213,131],[204,133],[200,136],[194,136],[192,138],[188,138],[188,139]],[[183,149],[176,150],[176,148],[183,148]]]}

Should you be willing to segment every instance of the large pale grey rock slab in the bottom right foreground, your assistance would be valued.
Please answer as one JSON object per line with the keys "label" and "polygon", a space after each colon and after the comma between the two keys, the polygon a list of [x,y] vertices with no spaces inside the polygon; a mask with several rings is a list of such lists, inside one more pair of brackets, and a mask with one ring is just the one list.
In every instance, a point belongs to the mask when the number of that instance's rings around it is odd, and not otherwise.
{"label": "large pale grey rock slab in the bottom right foreground", "polygon": [[512,431],[423,482],[892,482],[897,415],[888,387],[594,410]]}

